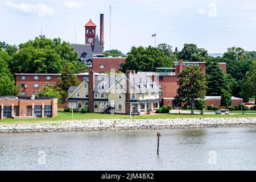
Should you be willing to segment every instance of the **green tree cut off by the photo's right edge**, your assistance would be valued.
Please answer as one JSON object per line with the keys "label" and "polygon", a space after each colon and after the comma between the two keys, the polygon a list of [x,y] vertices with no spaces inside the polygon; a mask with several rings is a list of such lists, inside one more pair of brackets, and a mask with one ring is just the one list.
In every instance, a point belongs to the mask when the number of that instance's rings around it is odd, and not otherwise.
{"label": "green tree cut off by the photo's right edge", "polygon": [[253,61],[250,71],[243,79],[242,95],[245,101],[254,100],[256,104],[256,60]]}

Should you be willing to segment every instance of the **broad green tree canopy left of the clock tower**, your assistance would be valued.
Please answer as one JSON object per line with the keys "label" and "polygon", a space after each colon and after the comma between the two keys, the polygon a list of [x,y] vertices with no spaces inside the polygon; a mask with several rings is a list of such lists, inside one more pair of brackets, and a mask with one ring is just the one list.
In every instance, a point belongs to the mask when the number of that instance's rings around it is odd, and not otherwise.
{"label": "broad green tree canopy left of the clock tower", "polygon": [[73,65],[75,73],[85,67],[77,61],[77,52],[69,43],[40,35],[19,45],[19,51],[9,61],[9,68],[12,73],[63,73],[67,64]]}

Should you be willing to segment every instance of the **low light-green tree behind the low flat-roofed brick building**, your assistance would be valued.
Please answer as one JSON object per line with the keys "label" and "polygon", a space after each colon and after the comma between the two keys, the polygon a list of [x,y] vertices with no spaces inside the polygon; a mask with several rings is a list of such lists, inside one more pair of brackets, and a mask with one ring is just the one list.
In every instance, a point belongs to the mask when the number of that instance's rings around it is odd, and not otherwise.
{"label": "low light-green tree behind the low flat-roofed brick building", "polygon": [[44,86],[42,89],[35,93],[39,97],[56,97],[58,104],[61,103],[61,93],[53,88],[53,85]]}

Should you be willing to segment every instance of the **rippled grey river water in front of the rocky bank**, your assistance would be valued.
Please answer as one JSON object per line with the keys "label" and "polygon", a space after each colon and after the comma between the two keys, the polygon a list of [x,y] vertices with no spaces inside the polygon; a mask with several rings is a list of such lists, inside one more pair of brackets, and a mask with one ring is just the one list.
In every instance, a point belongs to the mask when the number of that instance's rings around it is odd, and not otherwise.
{"label": "rippled grey river water in front of the rocky bank", "polygon": [[0,134],[0,169],[255,170],[256,127]]}

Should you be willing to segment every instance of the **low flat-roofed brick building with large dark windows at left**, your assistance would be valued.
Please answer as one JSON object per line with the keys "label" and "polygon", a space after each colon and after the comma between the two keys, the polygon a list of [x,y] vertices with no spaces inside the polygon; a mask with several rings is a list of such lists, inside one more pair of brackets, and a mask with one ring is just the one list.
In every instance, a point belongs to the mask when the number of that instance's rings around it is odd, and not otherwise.
{"label": "low flat-roofed brick building with large dark windows at left", "polygon": [[55,117],[57,98],[1,96],[0,118]]}

